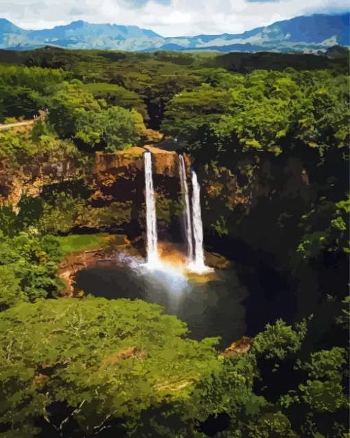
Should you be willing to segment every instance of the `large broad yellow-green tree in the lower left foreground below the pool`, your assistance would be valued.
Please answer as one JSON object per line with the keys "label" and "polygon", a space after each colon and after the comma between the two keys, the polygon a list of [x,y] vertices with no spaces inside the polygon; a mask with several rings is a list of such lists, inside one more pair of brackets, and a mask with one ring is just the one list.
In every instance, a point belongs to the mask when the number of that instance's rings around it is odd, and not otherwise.
{"label": "large broad yellow-green tree in the lower left foreground below the pool", "polygon": [[[3,430],[34,436],[36,418],[47,420],[47,433],[93,435],[118,417],[136,428],[141,411],[187,400],[220,366],[215,339],[198,343],[186,333],[159,306],[126,299],[39,300],[3,312]],[[67,419],[56,417],[54,402]]]}

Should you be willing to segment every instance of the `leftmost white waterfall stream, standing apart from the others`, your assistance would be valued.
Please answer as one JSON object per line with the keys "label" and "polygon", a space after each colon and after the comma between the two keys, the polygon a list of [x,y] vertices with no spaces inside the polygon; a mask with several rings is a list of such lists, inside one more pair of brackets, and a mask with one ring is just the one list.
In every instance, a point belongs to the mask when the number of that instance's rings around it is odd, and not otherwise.
{"label": "leftmost white waterfall stream, standing apart from the others", "polygon": [[156,200],[154,198],[152,178],[152,154],[148,150],[143,154],[145,164],[145,200],[146,200],[146,227],[147,227],[147,264],[159,264],[158,242],[156,231]]}

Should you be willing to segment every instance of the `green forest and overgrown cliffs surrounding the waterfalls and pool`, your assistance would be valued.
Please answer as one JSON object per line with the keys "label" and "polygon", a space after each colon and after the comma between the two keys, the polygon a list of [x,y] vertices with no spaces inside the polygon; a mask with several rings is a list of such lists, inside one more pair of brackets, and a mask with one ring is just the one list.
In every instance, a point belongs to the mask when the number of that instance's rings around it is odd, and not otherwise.
{"label": "green forest and overgrown cliffs surrounding the waterfalls and pool", "polygon": [[[0,50],[0,437],[350,438],[348,58]],[[143,244],[143,176],[107,164],[154,138],[193,161],[206,249],[273,303],[244,353],[62,292],[67,255]]]}

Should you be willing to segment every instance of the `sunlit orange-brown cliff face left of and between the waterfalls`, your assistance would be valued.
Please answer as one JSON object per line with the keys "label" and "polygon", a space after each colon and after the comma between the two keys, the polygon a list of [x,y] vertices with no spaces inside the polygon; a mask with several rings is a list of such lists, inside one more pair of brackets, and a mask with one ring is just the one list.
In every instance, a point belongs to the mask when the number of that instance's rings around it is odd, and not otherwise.
{"label": "sunlit orange-brown cliff face left of and between the waterfalls", "polygon": [[[143,153],[146,148],[152,152],[159,233],[172,240],[169,229],[179,228],[181,215],[178,157],[176,152],[152,146],[115,153],[96,152],[86,162],[78,162],[67,154],[36,157],[16,168],[6,160],[1,161],[0,207],[12,207],[18,214],[21,200],[40,196],[45,199],[45,211],[59,222],[58,227],[53,225],[45,232],[88,227],[125,231],[137,237],[145,228]],[[185,162],[189,168],[188,157]],[[77,202],[60,205],[53,197],[54,192],[67,193]],[[61,220],[63,210],[65,218]]]}

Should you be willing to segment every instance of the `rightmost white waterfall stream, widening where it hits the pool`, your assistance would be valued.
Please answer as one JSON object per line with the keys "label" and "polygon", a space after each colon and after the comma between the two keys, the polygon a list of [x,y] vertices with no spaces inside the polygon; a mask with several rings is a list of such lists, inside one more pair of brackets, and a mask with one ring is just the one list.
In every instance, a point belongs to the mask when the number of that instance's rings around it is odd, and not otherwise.
{"label": "rightmost white waterfall stream, widening where it hits the pool", "polygon": [[212,270],[205,266],[205,257],[203,251],[203,224],[202,214],[200,211],[200,185],[197,180],[196,172],[191,169],[192,178],[192,220],[194,224],[194,262],[189,264],[189,268],[197,273],[204,273]]}

